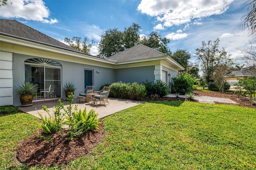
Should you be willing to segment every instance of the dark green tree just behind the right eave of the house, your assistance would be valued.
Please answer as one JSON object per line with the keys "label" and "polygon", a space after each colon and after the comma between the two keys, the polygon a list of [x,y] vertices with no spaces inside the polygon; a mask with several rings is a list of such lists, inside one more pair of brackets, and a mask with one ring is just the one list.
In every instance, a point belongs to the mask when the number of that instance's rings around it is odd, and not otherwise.
{"label": "dark green tree just behind the right eave of the house", "polygon": [[188,51],[184,49],[177,49],[172,58],[177,61],[180,65],[185,68],[185,71],[188,71],[188,60],[191,58],[191,55]]}

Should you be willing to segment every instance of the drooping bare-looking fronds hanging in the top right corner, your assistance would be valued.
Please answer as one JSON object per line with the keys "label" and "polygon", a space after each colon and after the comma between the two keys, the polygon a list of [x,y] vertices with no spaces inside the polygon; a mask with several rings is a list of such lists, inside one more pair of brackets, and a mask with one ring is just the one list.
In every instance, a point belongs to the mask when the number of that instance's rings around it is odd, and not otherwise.
{"label": "drooping bare-looking fronds hanging in the top right corner", "polygon": [[243,28],[248,28],[251,36],[254,37],[256,35],[256,0],[247,0],[246,6],[249,12],[243,17]]}

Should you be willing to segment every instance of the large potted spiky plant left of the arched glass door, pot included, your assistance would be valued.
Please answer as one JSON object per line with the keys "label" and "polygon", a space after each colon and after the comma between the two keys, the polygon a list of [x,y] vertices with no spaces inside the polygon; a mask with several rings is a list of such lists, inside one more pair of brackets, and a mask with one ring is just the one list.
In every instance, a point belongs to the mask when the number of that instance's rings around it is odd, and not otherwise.
{"label": "large potted spiky plant left of the arched glass door, pot included", "polygon": [[18,87],[15,88],[17,94],[20,95],[21,106],[31,106],[34,97],[33,94],[37,91],[37,84],[32,82],[25,82],[18,84]]}

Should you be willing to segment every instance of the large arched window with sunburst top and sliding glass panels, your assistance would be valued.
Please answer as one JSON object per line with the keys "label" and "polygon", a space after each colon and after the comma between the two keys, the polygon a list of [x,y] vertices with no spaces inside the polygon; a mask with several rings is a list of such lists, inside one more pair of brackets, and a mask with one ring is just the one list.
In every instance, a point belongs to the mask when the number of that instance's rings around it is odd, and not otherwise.
{"label": "large arched window with sunburst top and sliding glass panels", "polygon": [[46,100],[61,97],[61,65],[45,58],[32,58],[24,62],[25,81],[38,85],[33,100]]}

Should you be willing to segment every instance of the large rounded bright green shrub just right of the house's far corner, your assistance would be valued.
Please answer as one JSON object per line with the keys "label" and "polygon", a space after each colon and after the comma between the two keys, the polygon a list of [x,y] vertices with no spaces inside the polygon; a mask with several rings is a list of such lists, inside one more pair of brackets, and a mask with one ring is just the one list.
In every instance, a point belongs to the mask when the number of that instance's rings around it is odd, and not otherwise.
{"label": "large rounded bright green shrub just right of the house's far corner", "polygon": [[184,95],[188,91],[192,91],[194,85],[194,79],[190,74],[179,74],[173,78],[174,90]]}

